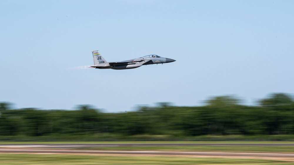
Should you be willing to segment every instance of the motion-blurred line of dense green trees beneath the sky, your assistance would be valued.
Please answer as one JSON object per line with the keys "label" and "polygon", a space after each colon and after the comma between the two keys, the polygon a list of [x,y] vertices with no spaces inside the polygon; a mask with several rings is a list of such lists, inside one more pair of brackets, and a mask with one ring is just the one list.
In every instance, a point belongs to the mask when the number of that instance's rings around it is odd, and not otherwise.
{"label": "motion-blurred line of dense green trees beneath the sky", "polygon": [[294,134],[294,100],[285,93],[241,105],[234,96],[218,96],[197,107],[160,103],[137,111],[103,113],[88,105],[78,110],[11,109],[0,103],[0,135],[54,134],[273,135]]}

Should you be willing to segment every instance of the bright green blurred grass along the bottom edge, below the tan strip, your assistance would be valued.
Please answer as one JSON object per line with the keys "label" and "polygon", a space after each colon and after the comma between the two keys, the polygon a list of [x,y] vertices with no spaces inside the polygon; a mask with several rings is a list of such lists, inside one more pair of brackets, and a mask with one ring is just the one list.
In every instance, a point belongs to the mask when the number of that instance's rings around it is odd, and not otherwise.
{"label": "bright green blurred grass along the bottom edge, below the tan strip", "polygon": [[0,154],[1,165],[69,165],[69,164],[250,164],[250,165],[294,165],[287,161],[257,159],[185,158],[185,157],[142,157],[142,156],[89,156],[89,155],[41,155]]}

